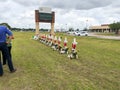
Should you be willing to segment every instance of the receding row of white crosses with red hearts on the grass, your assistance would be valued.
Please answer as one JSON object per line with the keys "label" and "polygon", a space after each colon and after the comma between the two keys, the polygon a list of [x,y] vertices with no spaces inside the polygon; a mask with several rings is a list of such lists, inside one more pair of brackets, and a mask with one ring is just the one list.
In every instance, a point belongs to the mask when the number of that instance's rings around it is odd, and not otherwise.
{"label": "receding row of white crosses with red hearts on the grass", "polygon": [[64,39],[64,43],[63,43],[64,47],[63,48],[61,46],[61,41],[62,41],[61,37],[57,38],[57,36],[43,34],[43,35],[40,36],[40,41],[42,43],[48,45],[48,46],[51,46],[51,48],[53,50],[57,50],[61,54],[64,54],[64,53],[68,54],[68,57],[70,59],[72,59],[72,58],[75,58],[75,59],[78,58],[77,51],[76,51],[76,45],[77,45],[76,38],[73,39],[72,50],[71,50],[70,53],[68,53],[68,49],[69,48],[67,47],[68,40],[67,40],[66,37]]}

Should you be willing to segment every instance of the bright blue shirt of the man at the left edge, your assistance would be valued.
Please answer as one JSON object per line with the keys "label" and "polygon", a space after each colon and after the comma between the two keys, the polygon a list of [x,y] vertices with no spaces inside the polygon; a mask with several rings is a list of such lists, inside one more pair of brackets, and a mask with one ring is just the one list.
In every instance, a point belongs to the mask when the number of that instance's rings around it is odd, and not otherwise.
{"label": "bright blue shirt of the man at the left edge", "polygon": [[12,36],[12,32],[6,26],[0,26],[0,43],[6,42],[6,34]]}

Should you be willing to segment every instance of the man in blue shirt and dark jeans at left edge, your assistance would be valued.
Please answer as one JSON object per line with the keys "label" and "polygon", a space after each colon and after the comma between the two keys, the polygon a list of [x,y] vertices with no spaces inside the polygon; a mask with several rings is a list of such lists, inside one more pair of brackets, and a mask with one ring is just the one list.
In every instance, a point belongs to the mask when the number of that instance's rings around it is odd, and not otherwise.
{"label": "man in blue shirt and dark jeans at left edge", "polygon": [[[6,35],[8,35],[10,39],[12,39],[13,36],[12,32],[6,26],[0,25],[0,50],[4,54],[5,59],[7,60],[8,63],[9,70],[12,73],[15,72],[16,69],[13,67],[12,59],[10,58],[10,54],[6,44]],[[0,61],[0,76],[2,76],[3,73],[4,73],[3,67]]]}

